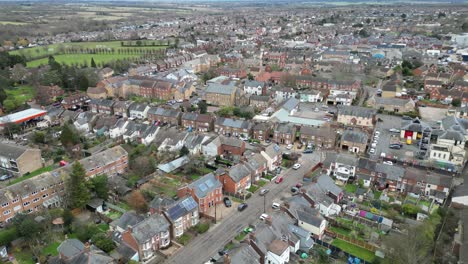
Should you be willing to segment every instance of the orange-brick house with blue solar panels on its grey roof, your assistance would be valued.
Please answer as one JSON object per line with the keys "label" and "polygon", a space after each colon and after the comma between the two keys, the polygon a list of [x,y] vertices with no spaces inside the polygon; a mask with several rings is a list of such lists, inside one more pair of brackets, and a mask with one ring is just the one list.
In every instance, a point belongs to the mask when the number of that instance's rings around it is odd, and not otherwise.
{"label": "orange-brick house with blue solar panels on its grey roof", "polygon": [[179,198],[191,195],[198,203],[198,210],[201,213],[206,213],[215,204],[222,203],[223,200],[223,185],[219,182],[217,176],[209,173],[190,183],[189,185],[177,190]]}

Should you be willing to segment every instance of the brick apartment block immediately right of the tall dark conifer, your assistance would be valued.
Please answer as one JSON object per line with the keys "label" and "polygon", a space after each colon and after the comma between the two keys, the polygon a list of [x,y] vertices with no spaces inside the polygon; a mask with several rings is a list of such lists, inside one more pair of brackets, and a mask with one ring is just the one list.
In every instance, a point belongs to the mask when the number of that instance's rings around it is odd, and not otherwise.
{"label": "brick apartment block immediately right of the tall dark conifer", "polygon": [[128,153],[121,146],[115,146],[80,160],[86,170],[86,177],[124,173],[128,168]]}

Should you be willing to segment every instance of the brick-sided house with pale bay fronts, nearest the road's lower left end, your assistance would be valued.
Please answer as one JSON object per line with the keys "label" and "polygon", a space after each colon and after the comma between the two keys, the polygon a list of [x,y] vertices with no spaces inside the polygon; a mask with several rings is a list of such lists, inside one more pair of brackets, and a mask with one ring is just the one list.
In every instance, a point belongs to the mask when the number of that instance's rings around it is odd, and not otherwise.
{"label": "brick-sided house with pale bay fronts, nearest the road's lower left end", "polygon": [[122,243],[138,252],[140,261],[150,260],[171,243],[170,224],[160,214],[152,214],[122,233]]}

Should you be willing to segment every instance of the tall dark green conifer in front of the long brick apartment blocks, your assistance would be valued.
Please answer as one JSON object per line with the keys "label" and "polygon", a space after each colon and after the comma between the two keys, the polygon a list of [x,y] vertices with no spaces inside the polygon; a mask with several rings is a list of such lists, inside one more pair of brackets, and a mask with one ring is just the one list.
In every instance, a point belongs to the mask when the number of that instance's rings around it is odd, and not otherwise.
{"label": "tall dark green conifer in front of the long brick apartment blocks", "polygon": [[69,208],[83,208],[89,202],[91,196],[86,188],[86,171],[80,162],[72,165],[72,172],[68,180]]}

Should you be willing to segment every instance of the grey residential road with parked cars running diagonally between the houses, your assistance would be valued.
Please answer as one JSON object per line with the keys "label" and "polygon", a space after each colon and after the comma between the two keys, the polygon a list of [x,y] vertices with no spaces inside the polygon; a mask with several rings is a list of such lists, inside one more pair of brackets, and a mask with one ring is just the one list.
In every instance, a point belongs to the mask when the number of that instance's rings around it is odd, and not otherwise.
{"label": "grey residential road with parked cars running diagonally between the houses", "polygon": [[[284,177],[282,183],[275,184],[274,182],[271,182],[265,185],[263,188],[270,189],[266,195],[266,206],[271,206],[275,197],[278,197],[281,192],[289,192],[291,186],[301,181],[305,172],[310,170],[319,162],[320,154],[320,152],[303,154],[300,160],[300,163],[302,164],[300,169],[285,170],[281,174]],[[263,213],[264,198],[259,195],[259,192],[247,200],[247,204],[248,207],[244,211],[236,211],[231,217],[226,218],[222,222],[211,227],[206,234],[193,239],[176,255],[168,258],[165,263],[202,264],[208,261],[209,258],[217,254],[224,245],[233,240],[243,228],[255,222]]]}

